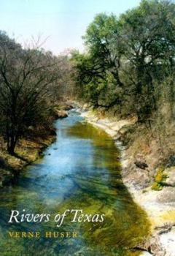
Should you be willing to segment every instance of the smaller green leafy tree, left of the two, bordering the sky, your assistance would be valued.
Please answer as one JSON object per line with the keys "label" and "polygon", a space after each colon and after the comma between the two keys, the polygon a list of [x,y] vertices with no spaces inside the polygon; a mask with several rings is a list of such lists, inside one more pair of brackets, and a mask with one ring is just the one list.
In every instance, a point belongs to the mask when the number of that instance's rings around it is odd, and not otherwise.
{"label": "smaller green leafy tree, left of the two, bordering the sky", "polygon": [[[116,97],[112,95],[111,102],[109,100],[105,103],[105,100],[102,100],[105,99],[108,80],[113,80],[116,86],[123,86],[120,79],[120,58],[123,48],[117,36],[116,17],[106,14],[96,15],[83,37],[88,53],[73,53],[72,59],[77,69],[77,84],[82,86],[82,94],[95,107],[110,108],[120,102],[117,95]],[[117,47],[114,45],[116,40]]]}

